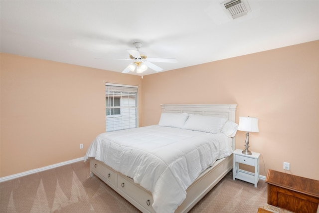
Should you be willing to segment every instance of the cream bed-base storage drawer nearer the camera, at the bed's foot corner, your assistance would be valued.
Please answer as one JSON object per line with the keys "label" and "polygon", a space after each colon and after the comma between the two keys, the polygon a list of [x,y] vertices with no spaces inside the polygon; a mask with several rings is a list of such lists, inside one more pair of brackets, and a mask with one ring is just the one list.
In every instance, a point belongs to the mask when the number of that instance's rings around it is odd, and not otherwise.
{"label": "cream bed-base storage drawer nearer the camera, at the bed's foot corner", "polygon": [[118,190],[128,195],[130,198],[134,198],[139,204],[141,204],[145,209],[153,212],[152,204],[153,197],[152,194],[142,187],[134,184],[132,180],[122,175],[118,175]]}

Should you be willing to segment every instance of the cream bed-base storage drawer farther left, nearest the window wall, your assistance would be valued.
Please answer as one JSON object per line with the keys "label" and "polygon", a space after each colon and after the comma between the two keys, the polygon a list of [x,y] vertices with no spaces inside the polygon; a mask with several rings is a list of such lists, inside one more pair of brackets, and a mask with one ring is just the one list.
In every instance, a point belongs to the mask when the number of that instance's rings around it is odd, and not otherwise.
{"label": "cream bed-base storage drawer farther left, nearest the window wall", "polygon": [[[91,159],[91,170],[94,171],[94,173],[98,173],[97,175],[102,176],[103,179],[111,183],[113,186],[115,186],[115,171],[111,170],[110,168],[104,166],[104,164],[98,160]],[[99,176],[99,178],[101,178]],[[101,179],[102,179],[101,178]]]}

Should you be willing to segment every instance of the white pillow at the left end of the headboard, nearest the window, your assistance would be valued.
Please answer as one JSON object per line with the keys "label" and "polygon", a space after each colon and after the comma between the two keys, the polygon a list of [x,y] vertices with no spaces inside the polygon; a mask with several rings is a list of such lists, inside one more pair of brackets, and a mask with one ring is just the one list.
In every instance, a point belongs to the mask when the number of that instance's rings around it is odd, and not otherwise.
{"label": "white pillow at the left end of the headboard, nearest the window", "polygon": [[159,125],[182,128],[187,118],[187,113],[161,113]]}

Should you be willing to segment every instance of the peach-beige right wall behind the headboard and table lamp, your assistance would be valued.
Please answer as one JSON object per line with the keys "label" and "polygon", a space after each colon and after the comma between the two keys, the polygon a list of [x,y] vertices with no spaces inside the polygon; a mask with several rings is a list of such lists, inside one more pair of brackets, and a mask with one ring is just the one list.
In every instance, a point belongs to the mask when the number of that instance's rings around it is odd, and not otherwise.
{"label": "peach-beige right wall behind the headboard and table lamp", "polygon": [[[200,51],[200,50],[199,50]],[[215,61],[143,79],[143,123],[157,124],[161,103],[238,104],[259,118],[250,150],[268,169],[319,180],[319,41]],[[245,133],[238,131],[236,148]]]}

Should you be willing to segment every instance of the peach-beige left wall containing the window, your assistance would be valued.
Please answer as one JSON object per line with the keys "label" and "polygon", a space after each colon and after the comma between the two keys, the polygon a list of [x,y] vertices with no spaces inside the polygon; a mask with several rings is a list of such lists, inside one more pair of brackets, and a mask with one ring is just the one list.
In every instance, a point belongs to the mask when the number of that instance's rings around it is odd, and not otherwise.
{"label": "peach-beige left wall containing the window", "polygon": [[[83,157],[96,135],[105,132],[105,82],[139,86],[142,103],[140,76],[0,57],[1,177]],[[141,112],[142,106],[142,118]]]}

